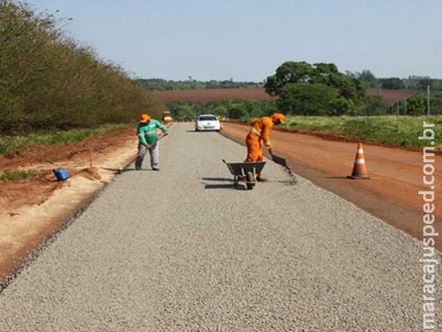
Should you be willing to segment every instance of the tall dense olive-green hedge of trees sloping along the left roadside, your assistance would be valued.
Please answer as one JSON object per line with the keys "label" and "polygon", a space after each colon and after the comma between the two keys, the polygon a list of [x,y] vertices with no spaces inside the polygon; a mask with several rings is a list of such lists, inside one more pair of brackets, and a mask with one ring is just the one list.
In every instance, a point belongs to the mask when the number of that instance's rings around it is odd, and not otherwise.
{"label": "tall dense olive-green hedge of trees sloping along the left roadside", "polygon": [[166,107],[112,62],[79,46],[47,12],[0,0],[0,133],[125,123]]}

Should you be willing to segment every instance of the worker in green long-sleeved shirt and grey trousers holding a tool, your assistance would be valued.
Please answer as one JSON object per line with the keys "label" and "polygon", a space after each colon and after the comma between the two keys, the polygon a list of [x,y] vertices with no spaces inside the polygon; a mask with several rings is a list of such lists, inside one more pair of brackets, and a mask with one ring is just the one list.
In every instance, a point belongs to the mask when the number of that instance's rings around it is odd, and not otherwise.
{"label": "worker in green long-sleeved shirt and grey trousers holding a tool", "polygon": [[159,146],[157,129],[168,134],[168,128],[158,120],[152,119],[149,114],[141,114],[139,124],[136,126],[138,134],[138,157],[135,159],[135,169],[141,170],[145,153],[148,148],[150,154],[150,166],[153,171],[159,171]]}

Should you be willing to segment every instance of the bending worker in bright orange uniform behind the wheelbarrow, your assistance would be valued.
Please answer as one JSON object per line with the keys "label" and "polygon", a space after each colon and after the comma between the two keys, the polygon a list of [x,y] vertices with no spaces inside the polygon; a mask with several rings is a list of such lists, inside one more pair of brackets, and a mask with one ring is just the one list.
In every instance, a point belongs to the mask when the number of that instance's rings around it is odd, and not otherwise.
{"label": "bending worker in bright orange uniform behind the wheelbarrow", "polygon": [[[263,116],[251,121],[251,130],[245,139],[247,146],[247,157],[245,161],[263,161],[263,143],[265,148],[272,153],[270,143],[270,131],[274,125],[285,123],[285,116],[282,113],[274,113],[272,116]],[[256,175],[256,180],[262,179],[263,173]]]}

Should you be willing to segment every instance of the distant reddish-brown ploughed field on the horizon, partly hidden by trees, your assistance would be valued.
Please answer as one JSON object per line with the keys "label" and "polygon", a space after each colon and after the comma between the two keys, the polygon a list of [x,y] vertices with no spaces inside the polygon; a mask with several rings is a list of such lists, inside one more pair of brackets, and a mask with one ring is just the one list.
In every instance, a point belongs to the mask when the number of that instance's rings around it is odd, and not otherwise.
{"label": "distant reddish-brown ploughed field on the horizon, partly hidden by trees", "polygon": [[[412,90],[384,90],[384,89],[368,89],[369,94],[382,94],[385,104],[390,105],[395,101],[403,101],[416,93]],[[152,91],[154,96],[159,98],[163,103],[171,101],[189,101],[200,102],[202,104],[209,101],[231,101],[235,99],[254,100],[254,101],[271,101],[276,99],[265,93],[262,88],[238,88],[238,89],[200,89],[200,90],[173,90],[173,91]]]}

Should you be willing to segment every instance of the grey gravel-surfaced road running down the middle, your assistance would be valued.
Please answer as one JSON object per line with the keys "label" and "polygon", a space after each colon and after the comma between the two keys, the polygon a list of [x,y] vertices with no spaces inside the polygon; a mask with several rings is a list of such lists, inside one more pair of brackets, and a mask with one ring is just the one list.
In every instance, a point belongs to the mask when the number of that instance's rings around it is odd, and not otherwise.
{"label": "grey gravel-surfaced road running down the middle", "polygon": [[233,189],[245,148],[192,123],[160,144],[3,290],[0,331],[422,330],[421,243],[271,161]]}

